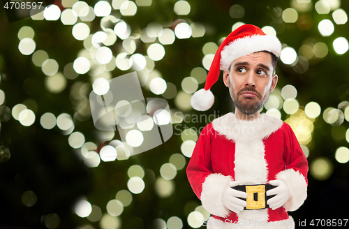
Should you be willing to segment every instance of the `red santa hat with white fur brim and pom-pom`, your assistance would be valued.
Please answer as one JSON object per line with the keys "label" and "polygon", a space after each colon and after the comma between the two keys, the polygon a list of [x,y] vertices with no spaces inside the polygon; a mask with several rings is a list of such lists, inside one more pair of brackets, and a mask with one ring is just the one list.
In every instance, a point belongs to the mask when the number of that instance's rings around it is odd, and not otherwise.
{"label": "red santa hat with white fur brim and pom-pom", "polygon": [[266,35],[262,29],[253,24],[244,24],[232,31],[219,45],[214,55],[206,77],[205,88],[191,96],[191,106],[195,110],[209,110],[214,104],[214,95],[210,89],[217,82],[220,70],[228,71],[235,59],[260,51],[272,52],[276,57],[280,57],[280,40],[276,36]]}

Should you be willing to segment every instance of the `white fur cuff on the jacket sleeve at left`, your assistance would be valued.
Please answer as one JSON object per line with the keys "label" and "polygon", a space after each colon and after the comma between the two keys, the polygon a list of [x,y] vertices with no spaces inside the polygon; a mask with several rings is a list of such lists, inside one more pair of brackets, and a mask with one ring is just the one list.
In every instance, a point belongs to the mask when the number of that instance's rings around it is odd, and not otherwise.
{"label": "white fur cuff on the jacket sleeve at left", "polygon": [[209,213],[223,218],[230,214],[230,210],[223,205],[222,197],[223,191],[231,181],[232,177],[217,173],[206,177],[202,183],[201,202]]}

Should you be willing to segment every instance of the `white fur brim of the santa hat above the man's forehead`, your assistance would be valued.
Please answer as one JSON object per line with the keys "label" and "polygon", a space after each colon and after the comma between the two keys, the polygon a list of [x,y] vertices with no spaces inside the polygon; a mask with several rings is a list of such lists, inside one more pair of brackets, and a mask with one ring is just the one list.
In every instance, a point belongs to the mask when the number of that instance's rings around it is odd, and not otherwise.
{"label": "white fur brim of the santa hat above the man's forehead", "polygon": [[221,69],[228,71],[232,61],[253,52],[268,51],[280,57],[281,43],[276,36],[253,35],[238,38],[226,45],[221,52]]}

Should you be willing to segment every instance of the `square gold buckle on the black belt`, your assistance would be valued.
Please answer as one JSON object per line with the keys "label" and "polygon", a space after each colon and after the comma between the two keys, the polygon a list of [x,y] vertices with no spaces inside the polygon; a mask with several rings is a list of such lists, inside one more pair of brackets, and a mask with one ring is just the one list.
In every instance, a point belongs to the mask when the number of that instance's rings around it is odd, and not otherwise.
{"label": "square gold buckle on the black belt", "polygon": [[246,209],[265,208],[265,184],[253,185],[253,186],[246,185],[246,193],[247,193]]}

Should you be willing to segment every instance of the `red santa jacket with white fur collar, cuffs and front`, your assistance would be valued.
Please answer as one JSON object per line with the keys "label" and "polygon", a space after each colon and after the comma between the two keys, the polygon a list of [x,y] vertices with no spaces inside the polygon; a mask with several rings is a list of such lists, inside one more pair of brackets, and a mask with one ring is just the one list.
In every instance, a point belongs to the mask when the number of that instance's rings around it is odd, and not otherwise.
{"label": "red santa jacket with white fur collar, cuffs and front", "polygon": [[[202,206],[213,214],[207,228],[259,228],[263,223],[267,228],[294,228],[287,211],[295,211],[306,199],[308,169],[288,124],[267,114],[247,121],[228,113],[202,130],[186,172]],[[283,180],[290,191],[283,207],[235,214],[223,205],[223,191],[230,181],[249,185],[274,179]]]}

